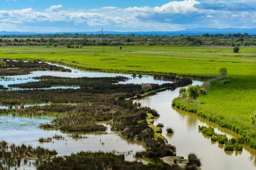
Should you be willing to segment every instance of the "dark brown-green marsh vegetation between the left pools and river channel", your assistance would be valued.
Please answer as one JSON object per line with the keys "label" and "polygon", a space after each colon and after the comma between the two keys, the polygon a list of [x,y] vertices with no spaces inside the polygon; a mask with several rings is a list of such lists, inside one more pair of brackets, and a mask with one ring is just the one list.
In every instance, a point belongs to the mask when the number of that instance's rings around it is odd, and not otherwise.
{"label": "dark brown-green marsh vegetation between the left pools and river channel", "polygon": [[[119,131],[127,139],[143,141],[145,143],[145,151],[136,153],[137,157],[159,158],[176,155],[175,146],[166,143],[161,135],[161,128],[151,125],[148,121],[148,117],[159,116],[157,111],[149,107],[141,107],[138,103],[133,104],[132,101],[124,99],[149,93],[149,90],[174,90],[176,87],[192,83],[189,78],[176,78],[174,83],[163,85],[145,84],[145,86],[116,84],[119,81],[127,80],[126,77],[120,76],[103,78],[41,76],[35,79],[39,81],[13,84],[10,87],[44,88],[72,85],[80,86],[81,88],[47,90],[47,93],[46,90],[0,91],[0,104],[50,103],[49,105],[5,109],[1,110],[2,114],[11,113],[12,115],[19,116],[54,115],[55,118],[50,124],[41,124],[40,128],[59,129],[64,132],[74,133],[71,136],[74,139],[83,138],[84,136],[81,133],[105,133],[107,127],[100,122],[108,121],[112,130]],[[38,141],[40,143],[54,142],[52,139],[62,139],[62,137],[40,138]],[[81,156],[79,154],[82,153],[78,153],[78,157]],[[95,156],[102,153],[90,154]],[[47,159],[40,166],[54,163],[56,159],[62,158]],[[66,161],[66,159],[62,161]],[[85,160],[78,158],[77,161],[82,163]],[[97,167],[98,165],[93,166]],[[115,163],[114,166],[116,166]],[[146,165],[142,164],[140,166]]]}

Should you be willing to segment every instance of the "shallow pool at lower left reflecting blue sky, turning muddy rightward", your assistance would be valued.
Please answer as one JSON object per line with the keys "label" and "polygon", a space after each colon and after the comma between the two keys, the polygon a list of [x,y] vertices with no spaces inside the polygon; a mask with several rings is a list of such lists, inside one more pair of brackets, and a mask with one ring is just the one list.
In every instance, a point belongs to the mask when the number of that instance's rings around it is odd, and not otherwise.
{"label": "shallow pool at lower left reflecting blue sky, turning muddy rightward", "polygon": [[[118,134],[110,130],[107,126],[106,134],[83,134],[85,138],[73,139],[71,133],[61,131],[47,131],[38,129],[41,123],[50,123],[48,119],[36,119],[28,117],[0,116],[0,140],[5,140],[9,144],[26,144],[33,147],[43,146],[44,148],[55,149],[59,156],[70,155],[79,151],[118,151],[125,154],[126,160],[135,160],[133,155],[136,151],[144,150],[141,143],[129,142],[121,138]],[[6,126],[8,124],[8,126]],[[53,137],[55,134],[61,135],[64,139],[52,139],[49,143],[38,142],[39,138]],[[132,151],[132,152],[131,152]]]}

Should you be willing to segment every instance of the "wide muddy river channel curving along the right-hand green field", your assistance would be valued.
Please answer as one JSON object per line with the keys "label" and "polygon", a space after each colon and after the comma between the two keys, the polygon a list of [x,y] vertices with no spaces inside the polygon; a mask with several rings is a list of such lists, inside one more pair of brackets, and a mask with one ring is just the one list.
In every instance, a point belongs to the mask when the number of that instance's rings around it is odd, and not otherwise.
{"label": "wide muddy river channel curving along the right-hand green field", "polygon": [[[193,84],[201,83],[193,81]],[[187,157],[191,152],[196,153],[201,158],[203,170],[256,169],[256,150],[246,147],[243,151],[224,151],[223,145],[211,142],[211,138],[199,132],[198,126],[212,126],[215,132],[227,134],[228,138],[237,136],[236,133],[202,119],[196,114],[171,106],[172,100],[178,96],[179,89],[135,100],[142,106],[148,106],[159,112],[160,117],[154,120],[154,125],[164,124],[163,135],[168,143],[176,146],[177,156]],[[174,134],[167,134],[166,128],[168,127],[173,129]]]}

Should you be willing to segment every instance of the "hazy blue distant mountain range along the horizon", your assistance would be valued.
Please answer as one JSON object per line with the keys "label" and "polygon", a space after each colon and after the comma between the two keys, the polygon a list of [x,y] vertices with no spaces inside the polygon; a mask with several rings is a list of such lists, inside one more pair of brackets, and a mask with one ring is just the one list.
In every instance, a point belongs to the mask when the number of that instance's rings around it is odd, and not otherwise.
{"label": "hazy blue distant mountain range along the horizon", "polygon": [[[139,32],[115,32],[104,31],[104,34],[137,34],[137,35],[200,35],[204,33],[209,34],[235,34],[235,33],[248,33],[256,35],[256,28],[192,28],[182,31],[139,31]],[[96,32],[8,32],[0,31],[0,35],[28,35],[28,34],[101,34],[101,31]]]}

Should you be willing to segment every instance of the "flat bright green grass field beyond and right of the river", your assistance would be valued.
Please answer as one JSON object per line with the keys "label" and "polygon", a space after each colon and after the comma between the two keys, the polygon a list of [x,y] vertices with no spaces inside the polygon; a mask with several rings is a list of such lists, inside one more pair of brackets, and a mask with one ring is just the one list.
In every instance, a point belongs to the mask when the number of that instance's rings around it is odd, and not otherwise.
{"label": "flat bright green grass field beyond and right of the river", "polygon": [[175,73],[198,78],[217,76],[219,68],[226,67],[226,83],[223,80],[211,83],[207,95],[198,98],[201,104],[197,107],[256,136],[255,126],[250,122],[256,110],[255,47],[241,47],[240,53],[223,46],[125,46],[121,50],[116,46],[0,47],[0,58],[53,61],[86,70]]}

